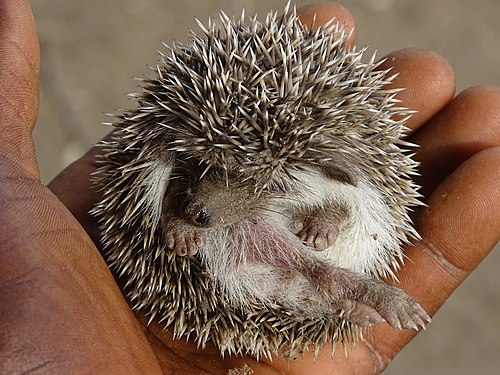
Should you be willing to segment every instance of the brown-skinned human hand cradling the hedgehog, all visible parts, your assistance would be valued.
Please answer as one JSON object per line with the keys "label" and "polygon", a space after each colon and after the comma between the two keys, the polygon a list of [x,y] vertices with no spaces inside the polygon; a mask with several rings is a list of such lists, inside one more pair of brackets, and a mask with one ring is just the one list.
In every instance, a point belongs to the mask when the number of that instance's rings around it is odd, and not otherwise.
{"label": "brown-skinned human hand cradling the hedgehog, all visible parts", "polygon": [[[304,22],[349,13],[335,4],[301,9]],[[0,0],[0,372],[225,374],[244,363],[255,374],[376,374],[414,330],[369,329],[346,358],[329,347],[295,361],[225,357],[130,311],[91,237],[87,214],[92,149],[45,187],[32,130],[38,112],[39,48],[25,0]],[[422,192],[416,215],[423,239],[406,251],[401,286],[432,315],[500,237],[500,90],[475,87],[454,96],[453,71],[435,53],[392,53],[385,67],[403,104],[418,113],[408,125],[421,145]],[[89,236],[90,235],[90,236]]]}

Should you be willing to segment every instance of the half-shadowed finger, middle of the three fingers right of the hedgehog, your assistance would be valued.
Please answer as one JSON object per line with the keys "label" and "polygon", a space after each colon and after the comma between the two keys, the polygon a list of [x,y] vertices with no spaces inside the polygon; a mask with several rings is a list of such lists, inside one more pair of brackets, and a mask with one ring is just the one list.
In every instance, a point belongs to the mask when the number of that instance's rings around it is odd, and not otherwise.
{"label": "half-shadowed finger, middle of the three fingers right of the hedgehog", "polygon": [[428,195],[472,155],[500,146],[500,89],[483,86],[464,91],[411,140],[420,145],[419,182]]}

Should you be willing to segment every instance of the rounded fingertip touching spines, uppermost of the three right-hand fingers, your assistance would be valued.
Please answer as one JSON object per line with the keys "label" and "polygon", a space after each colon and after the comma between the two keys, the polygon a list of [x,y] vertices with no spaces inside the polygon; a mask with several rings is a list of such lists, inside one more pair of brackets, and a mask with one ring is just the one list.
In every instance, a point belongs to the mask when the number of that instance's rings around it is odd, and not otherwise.
{"label": "rounded fingertip touching spines, uppermost of the three right-hand fingers", "polygon": [[418,129],[438,113],[455,93],[455,75],[450,64],[435,52],[408,48],[392,52],[380,69],[397,73],[389,88],[404,88],[396,96],[403,107],[416,111],[406,125]]}

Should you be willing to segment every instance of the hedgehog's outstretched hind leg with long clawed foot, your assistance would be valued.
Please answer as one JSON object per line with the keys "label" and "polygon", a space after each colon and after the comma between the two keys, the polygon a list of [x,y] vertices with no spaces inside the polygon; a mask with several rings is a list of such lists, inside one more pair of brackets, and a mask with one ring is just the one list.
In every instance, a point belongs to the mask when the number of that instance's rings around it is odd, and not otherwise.
{"label": "hedgehog's outstretched hind leg with long clawed foot", "polygon": [[[311,292],[322,299],[323,303],[318,304],[321,313],[341,314],[360,326],[385,320],[396,328],[418,329],[429,321],[420,305],[401,289],[321,259],[271,218],[254,219],[245,227],[247,238],[260,241],[252,242],[252,249],[247,249],[244,258],[267,263],[277,270],[300,273],[309,282]],[[258,292],[261,290],[259,287]],[[327,311],[323,310],[325,303]]]}

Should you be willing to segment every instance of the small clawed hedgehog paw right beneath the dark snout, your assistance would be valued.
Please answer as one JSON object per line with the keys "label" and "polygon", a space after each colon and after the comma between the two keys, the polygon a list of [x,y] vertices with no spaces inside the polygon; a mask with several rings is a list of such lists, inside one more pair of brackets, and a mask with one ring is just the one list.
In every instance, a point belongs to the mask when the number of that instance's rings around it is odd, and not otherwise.
{"label": "small clawed hedgehog paw right beneath the dark snout", "polygon": [[169,249],[181,256],[193,256],[204,245],[201,230],[176,218],[165,226],[165,241]]}

